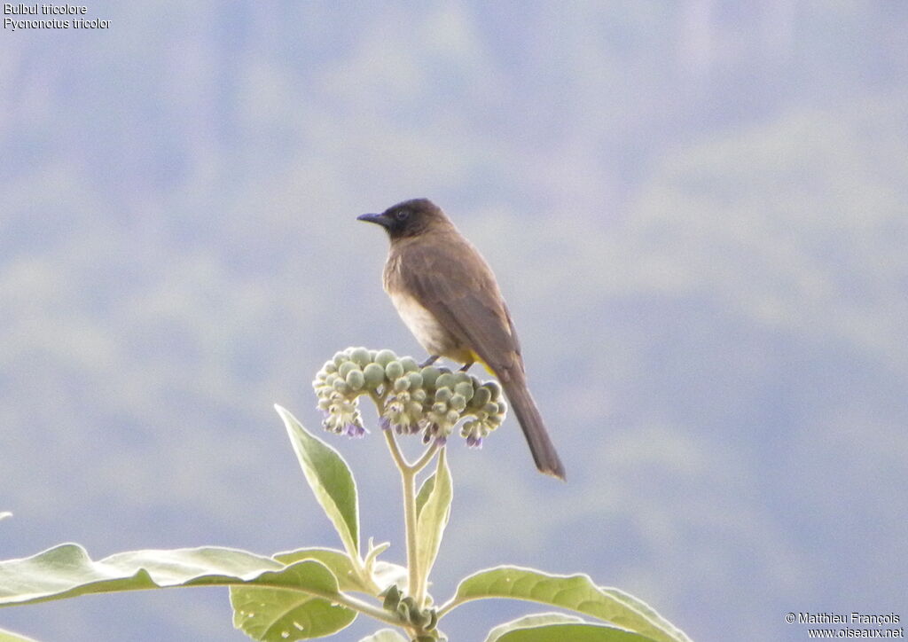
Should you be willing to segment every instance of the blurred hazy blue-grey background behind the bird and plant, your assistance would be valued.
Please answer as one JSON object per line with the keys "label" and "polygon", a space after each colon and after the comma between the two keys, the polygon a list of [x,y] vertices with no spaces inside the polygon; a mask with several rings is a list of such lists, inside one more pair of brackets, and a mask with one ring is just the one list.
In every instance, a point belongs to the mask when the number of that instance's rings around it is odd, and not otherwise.
{"label": "blurred hazy blue-grey background behind the bird and plant", "polygon": [[[111,27],[0,36],[0,558],[337,546],[271,405],[314,428],[334,351],[422,358],[355,216],[428,196],[498,274],[569,479],[513,420],[452,443],[438,598],[508,562],[587,572],[696,640],[908,617],[904,5],[88,9]],[[328,439],[402,561],[381,440]],[[222,589],[0,627],[244,639]]]}

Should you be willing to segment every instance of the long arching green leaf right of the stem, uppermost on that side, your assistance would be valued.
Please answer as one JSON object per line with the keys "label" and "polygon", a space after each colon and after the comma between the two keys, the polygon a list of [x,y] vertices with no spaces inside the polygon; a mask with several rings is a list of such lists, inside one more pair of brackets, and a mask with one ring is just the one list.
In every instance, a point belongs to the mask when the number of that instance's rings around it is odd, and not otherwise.
{"label": "long arching green leaf right of the stem, uppermost on that side", "polygon": [[587,575],[547,575],[531,568],[498,567],[460,582],[453,604],[511,598],[568,608],[610,622],[655,642],[690,642],[651,607],[614,588],[599,588]]}

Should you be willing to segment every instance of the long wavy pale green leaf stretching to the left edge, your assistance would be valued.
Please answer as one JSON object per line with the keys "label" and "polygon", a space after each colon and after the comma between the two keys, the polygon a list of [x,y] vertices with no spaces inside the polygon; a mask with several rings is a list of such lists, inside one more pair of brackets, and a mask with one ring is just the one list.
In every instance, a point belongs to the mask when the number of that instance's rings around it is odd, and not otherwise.
{"label": "long wavy pale green leaf stretching to the left edge", "polygon": [[[331,576],[316,561],[303,563]],[[94,561],[81,546],[62,544],[31,558],[0,562],[0,606],[149,588],[252,584],[309,590],[293,583],[300,579],[294,568],[234,548],[136,550]],[[324,597],[336,597],[337,580],[331,576],[331,581],[334,588]]]}

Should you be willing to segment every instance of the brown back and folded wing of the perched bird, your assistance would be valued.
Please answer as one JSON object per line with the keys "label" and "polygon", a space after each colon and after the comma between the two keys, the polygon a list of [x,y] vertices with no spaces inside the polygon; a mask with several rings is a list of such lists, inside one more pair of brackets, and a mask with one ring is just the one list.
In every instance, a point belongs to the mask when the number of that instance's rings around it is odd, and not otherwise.
{"label": "brown back and folded wing of the perched bird", "polygon": [[462,240],[412,245],[404,259],[405,287],[500,379],[521,374],[517,334],[495,277],[472,245]]}

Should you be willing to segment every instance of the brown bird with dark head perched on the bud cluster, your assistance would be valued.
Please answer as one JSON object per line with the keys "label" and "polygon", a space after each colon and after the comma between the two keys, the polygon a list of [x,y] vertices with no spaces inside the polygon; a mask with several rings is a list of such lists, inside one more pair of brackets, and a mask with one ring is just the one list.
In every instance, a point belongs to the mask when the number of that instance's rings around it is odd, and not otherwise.
{"label": "brown bird with dark head perched on the bud cluster", "polygon": [[479,251],[429,199],[391,205],[360,221],[390,240],[384,290],[419,345],[423,366],[446,357],[468,370],[479,361],[501,382],[537,469],[558,479],[565,469],[527,387],[517,331],[498,281]]}

